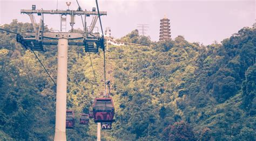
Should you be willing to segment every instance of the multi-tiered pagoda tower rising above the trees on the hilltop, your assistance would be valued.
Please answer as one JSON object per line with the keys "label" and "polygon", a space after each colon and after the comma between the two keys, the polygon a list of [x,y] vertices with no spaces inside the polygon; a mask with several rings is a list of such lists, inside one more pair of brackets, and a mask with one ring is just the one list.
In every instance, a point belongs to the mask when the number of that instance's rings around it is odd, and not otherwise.
{"label": "multi-tiered pagoda tower rising above the trees on the hilltop", "polygon": [[170,19],[166,16],[160,20],[160,36],[159,41],[171,39]]}

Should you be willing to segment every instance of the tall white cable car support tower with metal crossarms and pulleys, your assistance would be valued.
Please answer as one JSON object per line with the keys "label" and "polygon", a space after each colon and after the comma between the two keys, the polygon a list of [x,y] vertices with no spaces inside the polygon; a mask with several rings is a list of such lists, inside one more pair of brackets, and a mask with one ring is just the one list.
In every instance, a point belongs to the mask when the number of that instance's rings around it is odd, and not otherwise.
{"label": "tall white cable car support tower with metal crossarms and pulleys", "polygon": [[[70,3],[67,3],[67,5]],[[68,5],[68,6],[69,6]],[[57,95],[56,95],[56,125],[54,140],[66,140],[66,88],[67,88],[67,72],[68,72],[68,45],[84,46],[85,52],[98,52],[99,48],[104,50],[104,37],[99,32],[93,33],[93,28],[99,16],[106,15],[105,11],[78,10],[36,10],[36,5],[32,5],[32,10],[21,10],[30,17],[33,25],[33,32],[17,34],[17,41],[26,49],[32,51],[44,51],[44,45],[58,46],[58,67],[57,67]],[[34,14],[41,16],[40,22],[37,24]],[[60,32],[51,32],[44,30],[44,15],[60,15],[62,25]],[[64,32],[63,19],[70,16],[71,32]],[[75,16],[84,16],[84,29],[82,32],[73,32],[75,25]],[[86,17],[93,16],[91,26],[86,27]]]}

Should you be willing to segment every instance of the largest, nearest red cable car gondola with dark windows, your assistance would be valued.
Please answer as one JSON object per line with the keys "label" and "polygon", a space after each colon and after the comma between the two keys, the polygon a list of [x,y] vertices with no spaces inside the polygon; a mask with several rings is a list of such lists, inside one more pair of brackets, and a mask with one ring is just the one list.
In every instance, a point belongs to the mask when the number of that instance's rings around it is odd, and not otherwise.
{"label": "largest, nearest red cable car gondola with dark windows", "polygon": [[95,98],[92,110],[95,122],[114,122],[114,104],[111,97]]}

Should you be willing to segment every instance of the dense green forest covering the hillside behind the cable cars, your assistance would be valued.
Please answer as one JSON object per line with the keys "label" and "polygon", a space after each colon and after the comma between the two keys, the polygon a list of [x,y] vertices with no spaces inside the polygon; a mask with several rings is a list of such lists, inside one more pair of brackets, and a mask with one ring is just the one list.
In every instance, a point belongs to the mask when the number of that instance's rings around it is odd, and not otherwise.
{"label": "dense green forest covering the hillside behind the cable cars", "polygon": [[[31,24],[1,26],[32,31]],[[256,30],[244,27],[221,43],[200,45],[182,36],[153,42],[138,30],[107,48],[107,79],[116,108],[102,140],[255,140]],[[56,80],[57,48],[37,52]],[[95,70],[96,77],[93,75]],[[53,140],[56,87],[15,34],[0,31],[0,140]],[[88,112],[103,87],[103,52],[69,47],[68,109]],[[150,125],[150,126],[149,126]],[[150,128],[150,132],[149,131]],[[95,140],[96,124],[75,124],[68,140]]]}

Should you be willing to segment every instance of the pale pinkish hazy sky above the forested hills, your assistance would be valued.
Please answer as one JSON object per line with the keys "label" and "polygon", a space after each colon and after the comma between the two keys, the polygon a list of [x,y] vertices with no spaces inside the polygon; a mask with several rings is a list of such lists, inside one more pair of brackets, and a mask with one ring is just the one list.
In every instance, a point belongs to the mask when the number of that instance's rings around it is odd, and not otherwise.
{"label": "pale pinkish hazy sky above the forested hills", "polygon": [[[67,0],[68,1],[68,0]],[[58,0],[58,9],[67,9],[65,2]],[[70,0],[70,9],[76,10],[76,0]],[[91,10],[96,7],[94,0],[78,0],[82,9]],[[152,40],[159,39],[160,19],[167,16],[171,20],[171,36],[184,36],[191,42],[204,45],[230,37],[245,26],[252,26],[255,21],[255,1],[103,1],[98,0],[100,11],[107,11],[102,17],[103,27],[111,27],[111,34],[120,38],[134,29],[137,24],[149,24],[146,33]],[[19,22],[30,22],[29,16],[21,15],[21,9],[56,10],[57,0],[0,0],[0,24],[9,24],[12,19]],[[36,16],[39,17],[39,16]],[[39,19],[39,18],[37,18]],[[59,30],[59,16],[44,15],[45,24]],[[90,24],[87,19],[87,24]],[[37,20],[38,21],[38,20]],[[69,24],[69,21],[68,21]],[[98,26],[98,25],[96,25]],[[70,27],[70,26],[69,26]],[[68,27],[68,29],[69,29]],[[75,28],[82,29],[80,17],[76,17]]]}

